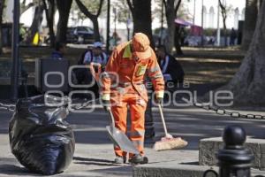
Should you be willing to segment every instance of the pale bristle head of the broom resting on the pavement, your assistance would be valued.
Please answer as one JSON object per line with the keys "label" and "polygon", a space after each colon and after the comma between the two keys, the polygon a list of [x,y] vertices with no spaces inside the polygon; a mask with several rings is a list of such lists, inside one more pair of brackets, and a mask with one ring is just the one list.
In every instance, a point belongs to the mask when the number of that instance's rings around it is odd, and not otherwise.
{"label": "pale bristle head of the broom resting on the pavement", "polygon": [[188,142],[178,138],[162,138],[161,141],[155,142],[154,149],[159,150],[177,150],[186,147]]}

